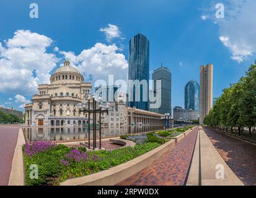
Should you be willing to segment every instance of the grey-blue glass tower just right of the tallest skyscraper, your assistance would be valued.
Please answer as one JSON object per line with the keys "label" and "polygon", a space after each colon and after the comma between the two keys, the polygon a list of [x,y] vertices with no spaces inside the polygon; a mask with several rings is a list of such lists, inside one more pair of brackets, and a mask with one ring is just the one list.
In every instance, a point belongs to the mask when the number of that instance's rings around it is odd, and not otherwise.
{"label": "grey-blue glass tower just right of the tallest skyscraper", "polygon": [[[160,94],[161,106],[159,108],[150,108],[150,111],[155,113],[169,113],[172,114],[171,107],[171,87],[172,87],[172,73],[167,67],[159,67],[154,70],[152,74],[152,80],[154,80],[154,94]],[[156,80],[161,80],[161,87],[156,87]]]}

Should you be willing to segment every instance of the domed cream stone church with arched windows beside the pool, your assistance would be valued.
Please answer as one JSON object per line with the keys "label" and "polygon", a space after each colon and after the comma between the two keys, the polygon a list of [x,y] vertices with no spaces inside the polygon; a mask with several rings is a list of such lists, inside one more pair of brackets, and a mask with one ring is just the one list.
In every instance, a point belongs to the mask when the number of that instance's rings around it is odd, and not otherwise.
{"label": "domed cream stone church with arched windows beside the pool", "polygon": [[32,103],[25,105],[28,126],[80,126],[88,122],[87,114],[79,113],[81,103],[92,84],[84,82],[82,74],[69,61],[51,75],[50,84],[38,85]]}

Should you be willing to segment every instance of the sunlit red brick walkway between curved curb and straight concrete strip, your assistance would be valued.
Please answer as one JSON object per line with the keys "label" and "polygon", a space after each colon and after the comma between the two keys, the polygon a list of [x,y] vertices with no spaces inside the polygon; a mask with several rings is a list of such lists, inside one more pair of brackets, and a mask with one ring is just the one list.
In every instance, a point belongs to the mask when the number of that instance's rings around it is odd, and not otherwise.
{"label": "sunlit red brick walkway between curved curb and straight concrete strip", "polygon": [[118,183],[118,186],[183,186],[192,160],[198,127],[193,129],[175,146],[151,165],[130,178]]}

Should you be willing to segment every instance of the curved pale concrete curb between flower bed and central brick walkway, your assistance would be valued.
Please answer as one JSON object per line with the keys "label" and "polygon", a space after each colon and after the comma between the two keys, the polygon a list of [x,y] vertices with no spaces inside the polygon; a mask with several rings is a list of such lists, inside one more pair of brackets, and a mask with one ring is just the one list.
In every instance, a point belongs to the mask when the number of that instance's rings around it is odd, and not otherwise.
{"label": "curved pale concrete curb between flower bed and central brick walkway", "polygon": [[153,160],[175,147],[175,141],[169,140],[165,144],[145,153],[133,160],[115,166],[99,173],[89,174],[80,178],[73,178],[60,183],[60,186],[113,186],[133,174],[146,168]]}

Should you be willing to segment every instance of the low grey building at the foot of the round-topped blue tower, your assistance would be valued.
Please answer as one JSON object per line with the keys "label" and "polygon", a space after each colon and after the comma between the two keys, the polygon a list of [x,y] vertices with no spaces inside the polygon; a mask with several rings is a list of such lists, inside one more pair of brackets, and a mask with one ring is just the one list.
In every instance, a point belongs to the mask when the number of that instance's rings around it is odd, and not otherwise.
{"label": "low grey building at the foot of the round-topped blue tower", "polygon": [[192,121],[198,119],[197,110],[184,110],[181,106],[174,107],[175,121]]}

